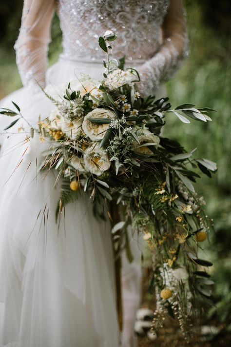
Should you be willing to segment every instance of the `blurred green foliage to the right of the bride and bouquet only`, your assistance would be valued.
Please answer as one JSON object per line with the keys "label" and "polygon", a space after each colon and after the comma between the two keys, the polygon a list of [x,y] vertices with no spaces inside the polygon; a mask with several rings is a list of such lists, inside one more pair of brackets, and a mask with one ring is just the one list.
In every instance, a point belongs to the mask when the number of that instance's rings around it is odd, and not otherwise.
{"label": "blurred green foliage to the right of the bride and bouquet only", "polygon": [[[230,6],[230,1],[222,2],[226,3],[226,7]],[[214,6],[215,11],[212,12]],[[208,15],[208,11],[202,11],[201,8],[205,7],[211,11],[211,15]],[[214,219],[215,231],[210,233],[210,242],[206,246],[206,252],[210,252],[214,264],[212,279],[216,282],[216,304],[209,311],[209,318],[215,318],[227,326],[231,323],[231,266],[228,265],[231,258],[231,62],[230,43],[225,28],[221,28],[224,24],[228,29],[230,20],[225,21],[225,18],[228,19],[229,14],[223,6],[217,6],[216,1],[188,2],[190,56],[176,78],[167,83],[168,96],[175,101],[175,105],[187,100],[196,105],[208,105],[217,112],[212,116],[212,123],[206,126],[193,122],[191,126],[178,124],[176,129],[177,121],[172,118],[164,132],[167,137],[187,144],[187,150],[196,146],[198,156],[217,163],[218,171],[212,180],[208,182],[206,177],[202,177],[195,187],[205,197],[207,213]],[[204,23],[205,16],[207,24]],[[222,21],[223,24],[219,26],[218,22],[221,24]],[[208,26],[208,22],[214,29]],[[200,163],[198,166],[211,176],[206,167]]]}

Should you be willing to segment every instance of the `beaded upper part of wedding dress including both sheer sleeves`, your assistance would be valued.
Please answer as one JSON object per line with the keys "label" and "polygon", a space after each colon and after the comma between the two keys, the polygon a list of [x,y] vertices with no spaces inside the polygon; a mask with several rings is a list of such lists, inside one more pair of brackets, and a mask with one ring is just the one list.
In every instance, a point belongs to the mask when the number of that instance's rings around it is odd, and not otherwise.
{"label": "beaded upper part of wedding dress including both sheer sleeves", "polygon": [[170,78],[187,54],[182,0],[24,0],[15,49],[24,85],[45,84],[50,24],[55,9],[63,33],[63,57],[105,58],[98,37],[117,34],[116,58],[140,61],[141,91],[150,93]]}

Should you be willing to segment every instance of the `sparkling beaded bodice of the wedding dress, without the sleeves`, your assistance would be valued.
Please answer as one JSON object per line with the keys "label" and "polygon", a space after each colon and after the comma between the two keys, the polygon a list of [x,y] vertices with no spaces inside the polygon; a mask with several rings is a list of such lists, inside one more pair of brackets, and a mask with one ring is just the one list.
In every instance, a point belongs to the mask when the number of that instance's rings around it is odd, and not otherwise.
{"label": "sparkling beaded bodice of the wedding dress, without the sleeves", "polygon": [[108,29],[117,34],[116,58],[147,60],[161,43],[161,25],[170,0],[60,0],[58,16],[63,54],[89,60],[105,58],[97,38]]}

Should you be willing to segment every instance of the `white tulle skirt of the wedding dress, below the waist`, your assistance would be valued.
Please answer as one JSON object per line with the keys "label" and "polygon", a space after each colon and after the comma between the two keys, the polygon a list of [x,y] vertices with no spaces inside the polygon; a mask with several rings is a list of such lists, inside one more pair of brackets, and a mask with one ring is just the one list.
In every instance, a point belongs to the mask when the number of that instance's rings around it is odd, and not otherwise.
{"label": "white tulle skirt of the wedding dress, below the waist", "polygon": [[[61,59],[47,83],[68,83],[82,72],[101,79],[102,64]],[[39,88],[24,87],[7,96],[32,125],[54,108]],[[0,133],[9,117],[0,115]],[[19,127],[28,129],[20,120]],[[118,347],[114,260],[109,221],[95,219],[82,194],[55,221],[59,189],[52,172],[39,173],[48,143],[23,129],[0,135],[0,346]],[[135,346],[133,324],[140,293],[140,249],[123,261],[124,326],[122,346]]]}

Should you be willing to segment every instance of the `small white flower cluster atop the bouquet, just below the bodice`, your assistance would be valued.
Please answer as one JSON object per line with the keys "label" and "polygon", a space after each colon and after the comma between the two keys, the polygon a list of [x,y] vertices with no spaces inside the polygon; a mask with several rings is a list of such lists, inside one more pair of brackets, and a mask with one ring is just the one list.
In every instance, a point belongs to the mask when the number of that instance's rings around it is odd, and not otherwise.
{"label": "small white flower cluster atop the bouquet, just below the bodice", "polygon": [[131,70],[123,71],[121,69],[115,69],[104,80],[104,84],[109,89],[116,89],[126,83],[131,85],[133,80],[134,75]]}

